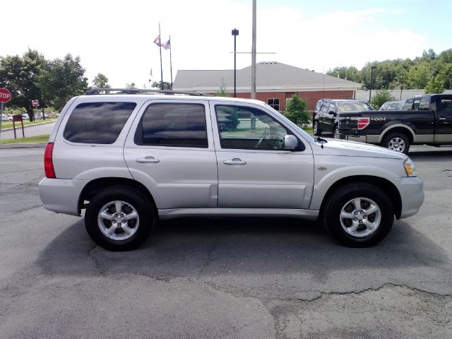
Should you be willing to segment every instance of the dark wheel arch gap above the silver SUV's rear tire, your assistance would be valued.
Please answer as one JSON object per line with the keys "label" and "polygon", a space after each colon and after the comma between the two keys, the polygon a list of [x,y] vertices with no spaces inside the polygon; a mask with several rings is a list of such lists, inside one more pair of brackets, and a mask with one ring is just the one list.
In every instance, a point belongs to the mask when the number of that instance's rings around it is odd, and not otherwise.
{"label": "dark wheel arch gap above the silver SUV's rear tire", "polygon": [[[81,194],[78,198],[78,213],[81,213],[81,210],[83,208],[86,208],[88,206],[85,201],[90,201],[95,194],[97,194],[98,191],[102,189],[106,189],[107,187],[111,186],[126,186],[130,187],[132,189],[136,189],[140,191],[142,194],[144,194],[147,198],[149,198],[150,202],[152,203],[152,207],[154,211],[157,211],[157,207],[155,205],[155,200],[152,194],[150,194],[150,191],[141,183],[133,180],[133,179],[127,179],[127,178],[119,178],[119,177],[106,177],[106,178],[99,178],[94,179],[90,181],[88,184],[85,185],[83,190],[81,191]],[[157,215],[157,213],[155,214]]]}

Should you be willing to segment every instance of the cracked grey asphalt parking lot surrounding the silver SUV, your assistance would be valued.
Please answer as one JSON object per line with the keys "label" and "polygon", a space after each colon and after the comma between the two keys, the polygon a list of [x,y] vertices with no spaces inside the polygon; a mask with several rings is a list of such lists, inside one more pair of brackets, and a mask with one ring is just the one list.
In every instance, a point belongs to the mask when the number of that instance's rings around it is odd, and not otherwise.
{"label": "cracked grey asphalt parking lot surrounding the silver SUV", "polygon": [[0,338],[452,338],[452,148],[412,146],[420,213],[369,249],[314,222],[160,222],[136,251],[42,208],[43,148],[0,149]]}

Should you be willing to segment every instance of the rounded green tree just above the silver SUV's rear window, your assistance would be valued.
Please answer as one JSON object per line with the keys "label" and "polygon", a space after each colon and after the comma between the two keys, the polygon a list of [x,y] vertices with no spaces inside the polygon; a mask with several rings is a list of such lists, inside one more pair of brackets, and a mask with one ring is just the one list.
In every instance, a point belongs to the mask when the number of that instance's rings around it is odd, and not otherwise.
{"label": "rounded green tree just above the silver SUV's rear window", "polygon": [[66,54],[64,59],[54,59],[40,76],[40,87],[44,95],[52,100],[52,106],[62,109],[71,97],[88,90],[88,78],[81,66],[80,57]]}

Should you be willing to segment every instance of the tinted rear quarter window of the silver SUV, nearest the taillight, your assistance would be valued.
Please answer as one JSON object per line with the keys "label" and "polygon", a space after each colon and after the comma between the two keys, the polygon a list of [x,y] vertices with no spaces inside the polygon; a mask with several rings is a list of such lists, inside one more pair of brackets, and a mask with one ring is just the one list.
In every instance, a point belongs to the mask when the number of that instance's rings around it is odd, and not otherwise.
{"label": "tinted rear quarter window of the silver SUV, nearest the taillight", "polygon": [[79,104],[73,109],[63,136],[73,143],[114,143],[135,107],[135,102]]}

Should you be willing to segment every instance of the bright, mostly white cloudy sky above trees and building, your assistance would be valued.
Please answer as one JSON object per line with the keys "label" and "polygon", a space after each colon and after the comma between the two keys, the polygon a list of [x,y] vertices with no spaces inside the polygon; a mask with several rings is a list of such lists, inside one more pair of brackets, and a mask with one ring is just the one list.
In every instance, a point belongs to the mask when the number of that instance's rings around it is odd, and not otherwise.
{"label": "bright, mostly white cloudy sky above trees and building", "polygon": [[[233,69],[251,51],[251,0],[2,1],[0,56],[28,47],[47,59],[81,57],[90,84],[97,73],[113,87],[160,81],[162,41],[171,35],[172,71]],[[452,48],[451,0],[257,0],[257,61],[279,61],[318,72],[368,61],[413,59]],[[162,49],[169,81],[169,50]],[[251,65],[237,54],[237,69]]]}

